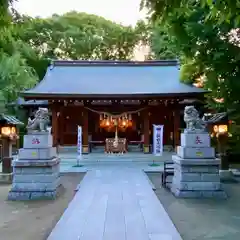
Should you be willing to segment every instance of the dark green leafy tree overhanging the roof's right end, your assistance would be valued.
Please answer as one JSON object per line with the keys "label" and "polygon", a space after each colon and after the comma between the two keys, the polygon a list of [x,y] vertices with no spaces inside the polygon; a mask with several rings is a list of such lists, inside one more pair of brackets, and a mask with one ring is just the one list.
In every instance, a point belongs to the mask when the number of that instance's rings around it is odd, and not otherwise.
{"label": "dark green leafy tree overhanging the roof's right end", "polygon": [[[213,6],[199,1],[145,1],[167,4],[160,8],[149,5],[155,19],[160,19],[168,37],[169,44],[181,57],[181,78],[194,82],[204,76],[204,87],[211,90],[208,103],[219,111],[235,110],[231,118],[235,145],[239,148],[240,140],[240,41],[239,18],[236,11],[213,14]],[[224,2],[224,1],[219,1]],[[239,4],[239,1],[237,4]],[[175,8],[170,3],[175,3]],[[222,5],[214,6],[220,9]],[[187,10],[186,10],[187,8]],[[163,13],[162,11],[165,11]],[[216,10],[215,9],[215,10]],[[228,11],[228,10],[227,10]],[[162,17],[164,14],[164,18]],[[154,18],[153,18],[154,19]],[[215,99],[223,99],[216,102]],[[236,144],[237,143],[237,144]]]}

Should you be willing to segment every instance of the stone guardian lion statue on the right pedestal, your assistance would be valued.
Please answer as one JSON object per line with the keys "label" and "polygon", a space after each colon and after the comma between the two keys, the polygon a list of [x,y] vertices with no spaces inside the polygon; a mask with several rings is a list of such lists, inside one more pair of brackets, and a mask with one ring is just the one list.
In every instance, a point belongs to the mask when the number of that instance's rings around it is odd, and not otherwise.
{"label": "stone guardian lion statue on the right pedestal", "polygon": [[185,131],[206,132],[206,123],[199,117],[199,113],[194,106],[186,106],[184,109]]}

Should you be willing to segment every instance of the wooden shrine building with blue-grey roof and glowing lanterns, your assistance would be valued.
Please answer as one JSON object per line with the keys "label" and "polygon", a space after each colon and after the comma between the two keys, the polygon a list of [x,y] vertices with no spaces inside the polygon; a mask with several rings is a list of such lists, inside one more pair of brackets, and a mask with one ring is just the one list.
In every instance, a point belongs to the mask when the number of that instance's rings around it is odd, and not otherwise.
{"label": "wooden shrine building with blue-grey roof and glowing lanterns", "polygon": [[186,99],[204,99],[203,89],[181,83],[179,65],[165,61],[53,61],[26,100],[48,100],[54,146],[76,146],[82,126],[83,153],[116,137],[151,151],[153,124],[164,125],[163,144],[180,141]]}

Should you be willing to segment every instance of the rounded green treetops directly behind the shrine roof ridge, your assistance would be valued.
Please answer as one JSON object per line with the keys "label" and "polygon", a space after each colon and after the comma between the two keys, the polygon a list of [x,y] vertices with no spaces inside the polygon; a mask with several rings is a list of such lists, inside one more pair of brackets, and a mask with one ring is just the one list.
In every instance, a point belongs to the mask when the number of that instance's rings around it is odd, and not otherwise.
{"label": "rounded green treetops directly behind the shrine roof ridge", "polygon": [[138,42],[134,28],[86,13],[25,18],[22,27],[21,39],[51,59],[130,59]]}

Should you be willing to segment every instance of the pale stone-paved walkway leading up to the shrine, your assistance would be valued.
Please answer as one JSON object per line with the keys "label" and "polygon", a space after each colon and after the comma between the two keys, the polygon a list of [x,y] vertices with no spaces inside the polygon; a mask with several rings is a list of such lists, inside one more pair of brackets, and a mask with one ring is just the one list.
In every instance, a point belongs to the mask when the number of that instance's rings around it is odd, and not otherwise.
{"label": "pale stone-paved walkway leading up to the shrine", "polygon": [[181,240],[143,171],[93,169],[48,240]]}

